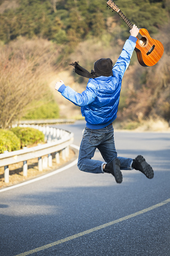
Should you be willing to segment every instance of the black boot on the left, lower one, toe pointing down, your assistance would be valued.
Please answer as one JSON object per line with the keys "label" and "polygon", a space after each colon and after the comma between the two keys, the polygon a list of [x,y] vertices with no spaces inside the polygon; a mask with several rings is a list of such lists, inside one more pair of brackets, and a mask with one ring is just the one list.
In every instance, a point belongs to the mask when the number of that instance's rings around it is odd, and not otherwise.
{"label": "black boot on the left, lower one, toe pointing down", "polygon": [[120,161],[118,158],[115,158],[112,162],[106,164],[104,172],[111,173],[117,183],[122,182],[122,172],[120,170]]}

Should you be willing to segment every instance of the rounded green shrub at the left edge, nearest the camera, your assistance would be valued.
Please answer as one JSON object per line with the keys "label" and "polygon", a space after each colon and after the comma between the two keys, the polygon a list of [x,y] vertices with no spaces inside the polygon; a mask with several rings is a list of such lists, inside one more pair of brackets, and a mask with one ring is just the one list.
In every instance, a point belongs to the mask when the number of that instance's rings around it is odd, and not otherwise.
{"label": "rounded green shrub at the left edge, nearest the camera", "polygon": [[12,131],[0,129],[0,154],[5,150],[11,152],[20,148],[20,140]]}

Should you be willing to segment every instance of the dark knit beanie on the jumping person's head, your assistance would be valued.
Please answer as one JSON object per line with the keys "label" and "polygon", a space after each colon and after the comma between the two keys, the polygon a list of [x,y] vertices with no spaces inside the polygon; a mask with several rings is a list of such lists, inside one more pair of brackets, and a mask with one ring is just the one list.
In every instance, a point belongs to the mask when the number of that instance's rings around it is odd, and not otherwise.
{"label": "dark knit beanie on the jumping person's head", "polygon": [[94,63],[94,71],[100,76],[113,76],[113,62],[110,58],[100,59]]}

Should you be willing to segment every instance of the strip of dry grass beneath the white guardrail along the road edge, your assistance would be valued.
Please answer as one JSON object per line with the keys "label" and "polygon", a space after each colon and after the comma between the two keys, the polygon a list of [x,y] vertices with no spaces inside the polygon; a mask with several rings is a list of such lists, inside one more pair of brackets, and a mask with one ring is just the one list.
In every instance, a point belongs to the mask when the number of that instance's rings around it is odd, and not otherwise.
{"label": "strip of dry grass beneath the white guardrail along the road edge", "polygon": [[60,154],[60,164],[56,164],[55,155],[52,154],[52,156],[53,156],[53,160],[52,160],[53,166],[48,167],[47,169],[44,169],[42,172],[38,170],[37,158],[28,160],[27,161],[27,164],[28,164],[27,177],[23,176],[23,162],[9,165],[9,170],[10,170],[9,183],[4,182],[4,167],[0,167],[0,188],[6,188],[8,186],[12,186],[23,181],[33,179],[37,176],[45,174],[46,172],[50,172],[54,169],[58,169],[60,166],[70,161],[75,156],[75,152],[72,149],[70,149],[69,156],[66,158],[65,161],[62,159],[62,156]]}

